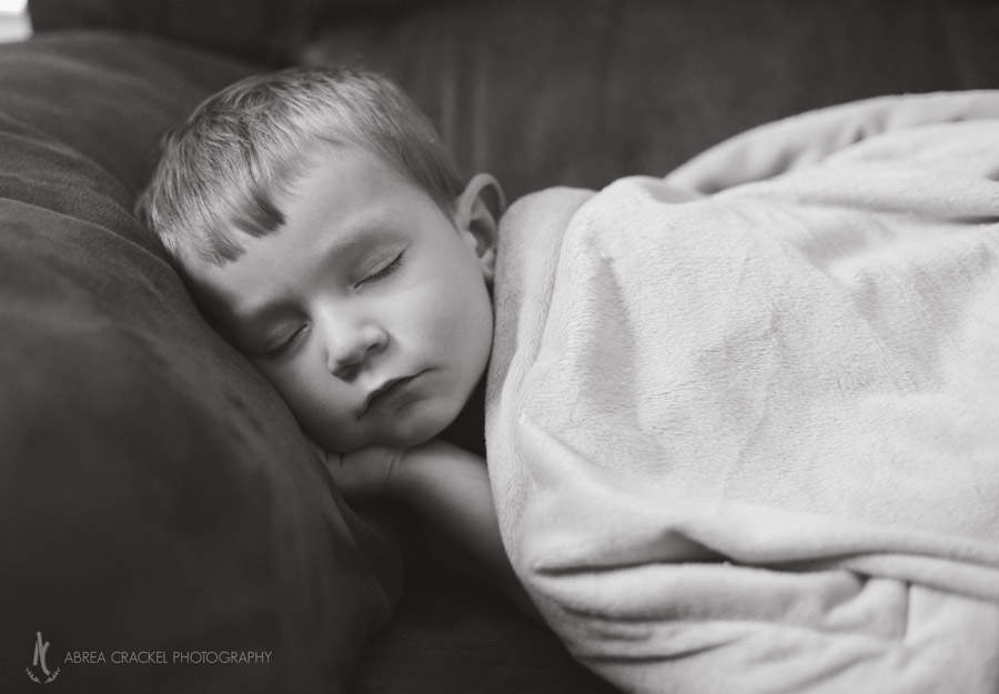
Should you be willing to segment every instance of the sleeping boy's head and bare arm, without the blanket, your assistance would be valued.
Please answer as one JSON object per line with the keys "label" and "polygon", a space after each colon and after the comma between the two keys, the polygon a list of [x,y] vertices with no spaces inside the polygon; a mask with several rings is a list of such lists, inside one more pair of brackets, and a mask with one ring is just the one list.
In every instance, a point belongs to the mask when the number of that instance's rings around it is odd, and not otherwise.
{"label": "sleeping boy's head and bare arm, without the blanket", "polygon": [[202,103],[138,212],[343,493],[404,501],[529,612],[481,456],[503,205],[390,82],[292,69]]}

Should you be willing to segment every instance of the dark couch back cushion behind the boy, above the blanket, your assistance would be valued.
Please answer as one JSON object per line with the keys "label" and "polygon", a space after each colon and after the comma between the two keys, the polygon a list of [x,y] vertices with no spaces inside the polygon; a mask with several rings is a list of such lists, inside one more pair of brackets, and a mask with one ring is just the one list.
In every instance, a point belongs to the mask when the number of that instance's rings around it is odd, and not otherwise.
{"label": "dark couch back cushion behind the boy, above the blanket", "polygon": [[981,0],[465,0],[332,24],[301,60],[394,78],[514,199],[665,175],[809,109],[999,87],[997,33]]}

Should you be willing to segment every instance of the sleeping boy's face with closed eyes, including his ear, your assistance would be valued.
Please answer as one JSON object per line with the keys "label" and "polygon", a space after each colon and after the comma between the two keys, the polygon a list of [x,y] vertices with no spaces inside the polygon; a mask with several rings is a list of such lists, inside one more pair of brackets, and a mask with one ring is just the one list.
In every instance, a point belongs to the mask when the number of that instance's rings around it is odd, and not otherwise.
{"label": "sleeping boy's face with closed eyes, including his ear", "polygon": [[280,201],[281,229],[248,237],[232,263],[188,269],[222,332],[325,449],[422,443],[482,378],[495,228],[488,214],[480,223],[472,188],[447,214],[374,155],[337,149]]}

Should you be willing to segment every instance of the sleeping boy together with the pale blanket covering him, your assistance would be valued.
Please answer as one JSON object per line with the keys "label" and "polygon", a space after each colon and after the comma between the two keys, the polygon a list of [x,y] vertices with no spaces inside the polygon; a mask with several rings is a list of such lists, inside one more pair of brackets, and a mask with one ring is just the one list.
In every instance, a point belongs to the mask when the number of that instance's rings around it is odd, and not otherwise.
{"label": "sleeping boy together with the pale blanket covering him", "polygon": [[[495,181],[383,81],[299,70],[201,107],[141,211],[344,493],[516,595],[491,475],[546,622],[622,688],[953,677],[904,652],[995,692],[965,635],[999,633],[996,142],[996,92],[885,98],[527,197],[493,300]],[[490,475],[445,442],[487,362]]]}

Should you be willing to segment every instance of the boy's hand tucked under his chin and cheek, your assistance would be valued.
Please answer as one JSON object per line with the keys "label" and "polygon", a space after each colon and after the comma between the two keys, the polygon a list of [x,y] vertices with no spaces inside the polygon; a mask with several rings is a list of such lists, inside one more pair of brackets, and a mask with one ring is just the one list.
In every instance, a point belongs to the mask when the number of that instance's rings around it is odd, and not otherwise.
{"label": "boy's hand tucked under his chin and cheek", "polygon": [[355,500],[394,496],[405,449],[367,445],[350,453],[330,453],[313,442],[341,493]]}

